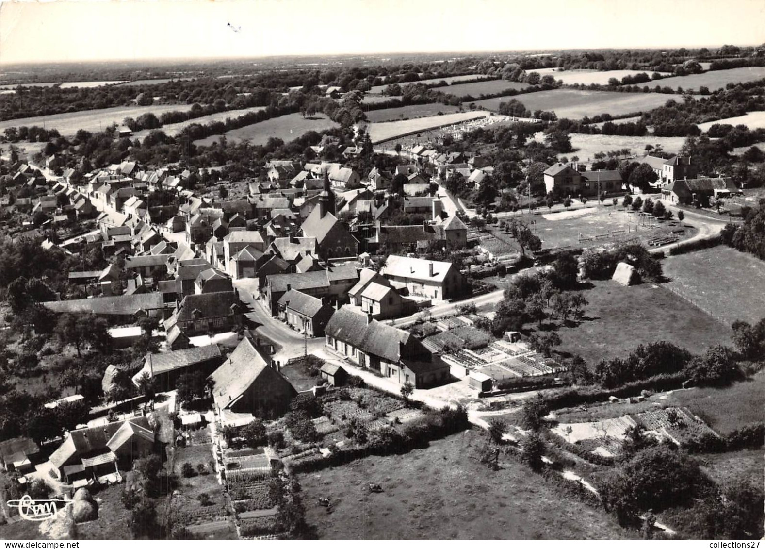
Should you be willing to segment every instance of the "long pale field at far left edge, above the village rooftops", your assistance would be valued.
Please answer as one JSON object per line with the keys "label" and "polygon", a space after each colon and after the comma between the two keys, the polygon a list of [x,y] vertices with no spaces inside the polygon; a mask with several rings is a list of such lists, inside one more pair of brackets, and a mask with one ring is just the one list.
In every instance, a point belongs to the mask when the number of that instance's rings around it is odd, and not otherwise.
{"label": "long pale field at far left edge, above the village rooftops", "polygon": [[0,132],[12,126],[44,126],[46,129],[57,129],[62,136],[73,136],[78,129],[88,132],[99,132],[109,124],[122,124],[127,117],[138,118],[144,113],[170,113],[177,110],[185,112],[190,105],[149,105],[149,106],[114,106],[109,109],[80,110],[76,113],[52,114],[50,116],[32,116],[0,122]]}

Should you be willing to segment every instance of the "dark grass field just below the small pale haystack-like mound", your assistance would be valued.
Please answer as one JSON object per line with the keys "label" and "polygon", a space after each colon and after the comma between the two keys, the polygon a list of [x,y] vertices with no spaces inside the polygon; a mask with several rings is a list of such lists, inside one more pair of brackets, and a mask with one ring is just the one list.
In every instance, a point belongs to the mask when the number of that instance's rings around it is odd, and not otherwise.
{"label": "dark grass field just below the small pale haystack-like mound", "polygon": [[562,340],[558,349],[581,355],[591,367],[602,359],[623,358],[641,343],[659,340],[692,353],[718,343],[730,345],[728,326],[661,286],[594,280],[584,297],[589,302],[585,320],[576,327],[558,329]]}

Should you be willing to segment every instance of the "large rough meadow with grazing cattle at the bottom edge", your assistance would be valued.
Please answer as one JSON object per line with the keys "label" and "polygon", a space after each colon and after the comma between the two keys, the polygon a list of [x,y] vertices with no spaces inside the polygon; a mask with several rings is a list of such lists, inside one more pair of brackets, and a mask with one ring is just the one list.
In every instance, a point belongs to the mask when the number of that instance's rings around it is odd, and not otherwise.
{"label": "large rough meadow with grazing cattle at the bottom edge", "polygon": [[[492,472],[470,430],[406,456],[371,456],[300,475],[306,520],[320,539],[623,539],[601,509],[568,498],[514,459]],[[369,482],[384,492],[369,493]],[[334,512],[316,504],[329,498]]]}

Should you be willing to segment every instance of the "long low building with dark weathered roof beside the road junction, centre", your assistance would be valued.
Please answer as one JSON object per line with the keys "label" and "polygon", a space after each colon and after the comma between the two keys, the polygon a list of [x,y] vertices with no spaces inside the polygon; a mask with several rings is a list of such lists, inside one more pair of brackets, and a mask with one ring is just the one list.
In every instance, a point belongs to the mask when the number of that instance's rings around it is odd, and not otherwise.
{"label": "long low building with dark weathered roof beside the road junction, centre", "polygon": [[369,319],[349,306],[324,328],[327,347],[399,384],[431,387],[449,379],[449,366],[410,332]]}

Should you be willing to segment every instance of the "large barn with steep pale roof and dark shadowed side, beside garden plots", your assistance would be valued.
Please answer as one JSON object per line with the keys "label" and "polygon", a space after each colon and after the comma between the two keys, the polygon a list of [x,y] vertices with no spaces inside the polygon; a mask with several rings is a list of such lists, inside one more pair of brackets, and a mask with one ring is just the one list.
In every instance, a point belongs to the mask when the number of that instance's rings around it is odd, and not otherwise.
{"label": "large barn with steep pale roof and dark shadowed side, beside garden plots", "polygon": [[290,400],[297,394],[295,387],[272,368],[271,359],[259,351],[249,333],[209,379],[220,413],[273,417],[288,410]]}

